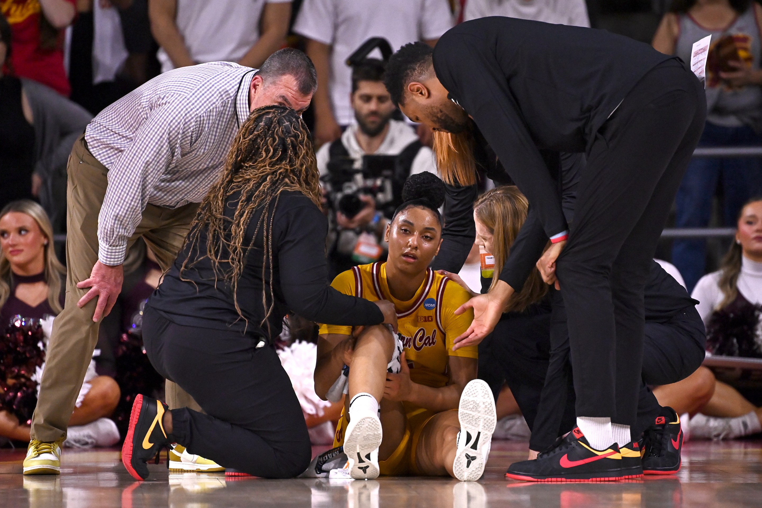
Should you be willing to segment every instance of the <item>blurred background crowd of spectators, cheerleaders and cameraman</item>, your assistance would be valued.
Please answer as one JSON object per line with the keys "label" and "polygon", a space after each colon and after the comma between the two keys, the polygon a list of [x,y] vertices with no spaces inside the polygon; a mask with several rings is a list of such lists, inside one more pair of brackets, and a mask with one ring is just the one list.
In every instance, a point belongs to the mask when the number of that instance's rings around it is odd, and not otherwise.
{"label": "blurred background crowd of spectators, cheerleaders and cameraman", "polygon": [[[17,315],[41,320],[60,312],[61,267],[54,240],[66,233],[66,161],[72,144],[94,115],[155,75],[218,60],[256,68],[285,45],[305,50],[319,81],[305,119],[312,128],[324,187],[334,276],[356,264],[383,260],[383,230],[399,204],[405,178],[437,172],[431,133],[403,120],[383,85],[388,56],[383,44],[373,46],[363,56],[370,59],[357,65],[347,65],[347,59],[370,37],[383,38],[391,50],[415,40],[434,46],[454,24],[485,16],[590,27],[588,7],[600,11],[599,3],[0,0],[0,324],[5,327]],[[690,59],[693,42],[712,35],[706,70],[709,117],[700,144],[762,145],[762,7],[752,0],[673,0],[665,5],[653,36],[655,49]],[[492,184],[481,185],[486,190]],[[676,276],[700,300],[716,354],[762,357],[762,201],[754,200],[759,196],[758,158],[694,158],[677,195],[677,227],[719,223],[738,229],[719,271],[709,274],[715,266],[706,240],[681,239],[671,245]],[[12,254],[18,249],[21,257]],[[478,250],[472,254],[463,278],[478,289]],[[72,426],[108,427],[101,420],[111,417],[123,433],[131,398],[139,391],[162,389],[158,375],[138,375],[151,370],[141,355],[142,303],[162,273],[142,242],[124,266],[123,292],[101,326],[94,372],[85,383],[90,388],[78,401]],[[291,320],[291,331],[283,337],[287,343],[295,337],[315,340],[312,325],[297,326],[298,318]],[[25,325],[13,326],[17,330]],[[290,351],[292,357],[296,350]],[[703,377],[692,382],[696,400],[702,402],[695,404],[695,411],[716,418],[703,426],[715,429],[708,437],[738,436],[733,426],[740,420],[734,418],[748,418],[751,412],[762,417],[756,407],[762,405],[759,393],[741,395],[715,382],[708,369],[698,376]],[[6,391],[11,384],[0,379]],[[721,400],[712,399],[713,394]],[[316,399],[315,404],[308,416],[318,427],[328,421],[323,415],[332,413]],[[509,406],[507,401],[498,404]],[[8,410],[3,401],[0,407]],[[0,411],[0,436],[28,439],[24,411]],[[758,420],[752,423],[751,430],[762,430]],[[85,436],[70,444],[91,441]]]}

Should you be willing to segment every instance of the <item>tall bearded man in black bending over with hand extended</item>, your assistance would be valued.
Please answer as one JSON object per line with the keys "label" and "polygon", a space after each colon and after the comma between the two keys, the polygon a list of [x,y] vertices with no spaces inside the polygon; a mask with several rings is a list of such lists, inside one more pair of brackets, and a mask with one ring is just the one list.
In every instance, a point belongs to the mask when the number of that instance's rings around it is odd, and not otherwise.
{"label": "tall bearded man in black bending over with hand extended", "polygon": [[[433,53],[404,46],[386,84],[411,120],[437,129],[450,184],[475,181],[465,155],[478,126],[553,242],[539,266],[562,289],[582,432],[574,460],[540,458],[527,478],[628,476],[617,443],[632,440],[637,418],[643,288],[706,117],[698,79],[680,59],[627,37],[495,17],[459,24]],[[587,154],[571,225],[541,149]],[[460,339],[482,340],[514,290],[501,280],[472,299],[475,319]],[[595,450],[606,458],[585,460],[600,457]]]}

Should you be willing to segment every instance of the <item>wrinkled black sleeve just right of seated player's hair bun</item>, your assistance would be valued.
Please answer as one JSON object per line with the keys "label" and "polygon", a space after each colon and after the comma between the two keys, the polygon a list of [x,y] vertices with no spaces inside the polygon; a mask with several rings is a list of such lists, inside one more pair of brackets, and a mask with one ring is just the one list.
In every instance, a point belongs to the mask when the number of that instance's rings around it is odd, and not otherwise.
{"label": "wrinkled black sleeve just right of seated player's hair bun", "polygon": [[447,270],[458,273],[476,238],[473,206],[479,197],[479,187],[457,187],[445,184],[444,228],[439,254],[431,262],[434,270]]}

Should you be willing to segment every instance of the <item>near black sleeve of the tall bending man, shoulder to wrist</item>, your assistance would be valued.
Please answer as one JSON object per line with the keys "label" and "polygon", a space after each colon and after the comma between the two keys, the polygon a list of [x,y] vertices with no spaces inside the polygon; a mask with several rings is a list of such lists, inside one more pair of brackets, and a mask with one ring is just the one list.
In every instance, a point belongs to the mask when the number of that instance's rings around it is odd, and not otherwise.
{"label": "near black sleeve of the tall bending man, shoulder to wrist", "polygon": [[559,194],[484,40],[472,34],[440,39],[434,69],[450,95],[471,115],[502,165],[536,208],[547,237],[567,229]]}

